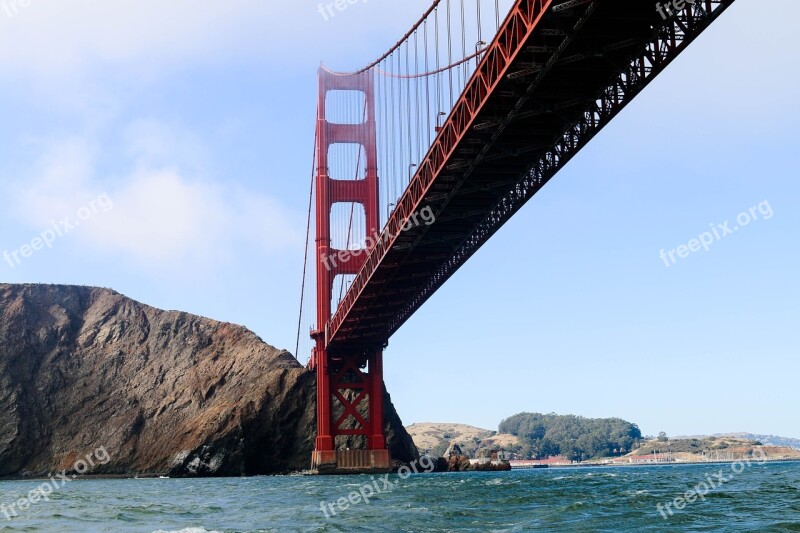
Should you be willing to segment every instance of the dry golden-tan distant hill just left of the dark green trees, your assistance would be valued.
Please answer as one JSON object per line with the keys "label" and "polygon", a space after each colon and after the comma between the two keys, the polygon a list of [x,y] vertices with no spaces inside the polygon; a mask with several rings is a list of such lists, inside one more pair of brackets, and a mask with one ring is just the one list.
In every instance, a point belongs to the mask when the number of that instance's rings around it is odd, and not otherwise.
{"label": "dry golden-tan distant hill just left of the dark green trees", "polygon": [[406,431],[421,453],[427,451],[434,456],[444,454],[452,442],[458,444],[469,456],[474,456],[481,448],[507,449],[519,444],[519,439],[514,435],[498,434],[496,431],[467,424],[419,422],[407,426]]}

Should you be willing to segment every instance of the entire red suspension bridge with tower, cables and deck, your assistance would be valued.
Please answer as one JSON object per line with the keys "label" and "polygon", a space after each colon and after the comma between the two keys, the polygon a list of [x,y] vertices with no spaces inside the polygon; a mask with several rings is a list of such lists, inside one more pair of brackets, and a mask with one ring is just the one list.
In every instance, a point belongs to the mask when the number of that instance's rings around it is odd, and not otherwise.
{"label": "entire red suspension bridge with tower, cables and deck", "polygon": [[733,2],[436,0],[363,69],[319,69],[312,470],[390,468],[389,338]]}

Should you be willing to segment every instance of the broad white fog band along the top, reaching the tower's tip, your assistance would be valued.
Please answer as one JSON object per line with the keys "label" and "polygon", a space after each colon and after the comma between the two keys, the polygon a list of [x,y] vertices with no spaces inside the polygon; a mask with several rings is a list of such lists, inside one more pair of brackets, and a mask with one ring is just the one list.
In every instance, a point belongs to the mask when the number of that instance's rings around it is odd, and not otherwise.
{"label": "broad white fog band along the top, reaching the tower's tip", "polygon": [[320,60],[333,68],[361,66],[383,52],[374,48],[376,39],[386,48],[394,44],[429,0],[364,0],[326,21],[319,6],[329,3],[0,0],[0,75],[62,80],[117,67],[142,81],[220,61],[308,64],[312,71]]}

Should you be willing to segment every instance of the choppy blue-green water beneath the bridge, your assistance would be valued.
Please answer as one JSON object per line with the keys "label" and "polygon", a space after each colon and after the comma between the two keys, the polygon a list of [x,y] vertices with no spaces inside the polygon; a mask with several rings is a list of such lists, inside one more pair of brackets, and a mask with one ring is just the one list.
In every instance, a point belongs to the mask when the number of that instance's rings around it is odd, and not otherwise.
{"label": "choppy blue-green water beneath the bridge", "polygon": [[[0,482],[0,506],[41,483]],[[0,507],[0,532],[800,531],[800,463],[78,479],[48,499],[11,520]]]}

